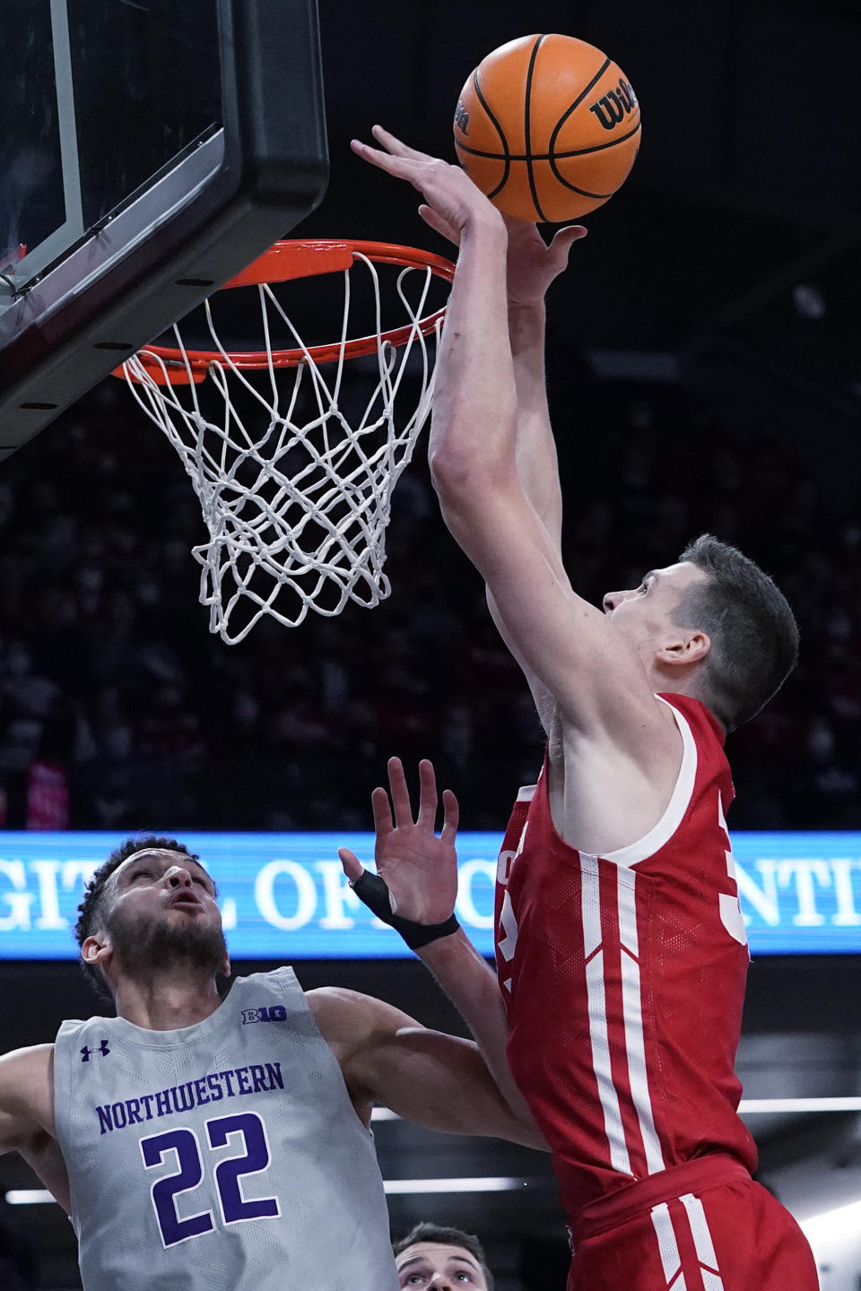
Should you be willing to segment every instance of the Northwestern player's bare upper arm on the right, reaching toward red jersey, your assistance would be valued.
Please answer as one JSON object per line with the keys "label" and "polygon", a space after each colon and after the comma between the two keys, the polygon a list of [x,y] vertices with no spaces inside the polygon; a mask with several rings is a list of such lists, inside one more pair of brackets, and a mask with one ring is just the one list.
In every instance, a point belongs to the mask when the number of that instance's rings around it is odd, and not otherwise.
{"label": "Northwestern player's bare upper arm on the right, reaching toward red jersey", "polygon": [[546,1148],[538,1128],[511,1112],[472,1041],[356,991],[324,988],[307,998],[358,1105],[381,1103],[430,1130]]}

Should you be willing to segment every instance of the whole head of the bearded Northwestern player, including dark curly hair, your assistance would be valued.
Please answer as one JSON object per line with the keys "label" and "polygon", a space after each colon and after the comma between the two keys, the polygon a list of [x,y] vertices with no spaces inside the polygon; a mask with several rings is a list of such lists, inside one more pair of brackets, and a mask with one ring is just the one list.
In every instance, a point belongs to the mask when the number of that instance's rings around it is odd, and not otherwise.
{"label": "whole head of the bearded Northwestern player, including dark curly hair", "polygon": [[84,968],[111,994],[120,976],[176,966],[227,973],[216,886],[196,855],[172,838],[128,839],[93,874],[75,936]]}

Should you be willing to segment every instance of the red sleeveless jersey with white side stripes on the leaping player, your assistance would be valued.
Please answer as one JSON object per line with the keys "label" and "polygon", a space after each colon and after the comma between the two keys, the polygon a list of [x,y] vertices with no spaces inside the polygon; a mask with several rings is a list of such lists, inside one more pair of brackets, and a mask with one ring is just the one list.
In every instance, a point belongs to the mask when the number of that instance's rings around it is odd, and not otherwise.
{"label": "red sleeveless jersey with white side stripes on the leaping player", "polygon": [[569,847],[542,773],[500,855],[509,1061],[569,1215],[705,1153],[756,1164],[733,1072],[750,957],[724,820],[732,778],[704,705],[674,695],[670,707],[682,767],[644,838],[603,857]]}

